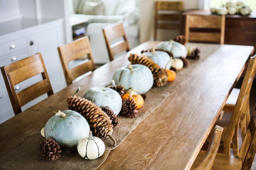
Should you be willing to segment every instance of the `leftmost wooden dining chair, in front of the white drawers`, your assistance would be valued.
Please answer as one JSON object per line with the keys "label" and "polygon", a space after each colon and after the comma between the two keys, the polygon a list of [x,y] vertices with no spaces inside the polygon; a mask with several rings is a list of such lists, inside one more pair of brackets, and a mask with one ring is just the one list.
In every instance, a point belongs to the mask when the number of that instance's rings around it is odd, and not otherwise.
{"label": "leftmost wooden dining chair, in front of the white drawers", "polygon": [[[41,53],[37,53],[18,62],[1,67],[1,71],[15,115],[22,112],[20,107],[38,96],[45,93],[47,93],[48,96],[53,94]],[[22,91],[15,92],[14,86],[16,84],[37,74],[42,75],[42,81],[35,83]]]}

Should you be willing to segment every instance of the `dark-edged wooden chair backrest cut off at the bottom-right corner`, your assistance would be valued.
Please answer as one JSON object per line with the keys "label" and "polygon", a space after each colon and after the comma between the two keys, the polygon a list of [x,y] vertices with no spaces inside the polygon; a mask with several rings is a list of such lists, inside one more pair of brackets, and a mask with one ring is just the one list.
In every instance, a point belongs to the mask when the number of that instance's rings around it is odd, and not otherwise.
{"label": "dark-edged wooden chair backrest cut off at the bottom-right corner", "polygon": [[238,158],[242,159],[242,169],[250,170],[256,153],[256,104],[252,112],[252,118],[245,134]]}

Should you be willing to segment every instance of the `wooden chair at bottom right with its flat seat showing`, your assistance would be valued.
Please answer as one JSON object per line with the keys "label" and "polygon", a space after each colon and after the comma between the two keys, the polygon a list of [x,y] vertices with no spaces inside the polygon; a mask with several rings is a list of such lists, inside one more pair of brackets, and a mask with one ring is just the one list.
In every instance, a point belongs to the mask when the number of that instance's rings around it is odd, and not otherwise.
{"label": "wooden chair at bottom right with its flat seat showing", "polygon": [[[242,169],[250,170],[256,153],[256,105],[254,107],[251,121],[246,130],[245,138],[242,143],[238,156],[217,153],[212,170],[220,169]],[[207,151],[201,150],[196,157],[191,169],[195,169],[204,160]]]}

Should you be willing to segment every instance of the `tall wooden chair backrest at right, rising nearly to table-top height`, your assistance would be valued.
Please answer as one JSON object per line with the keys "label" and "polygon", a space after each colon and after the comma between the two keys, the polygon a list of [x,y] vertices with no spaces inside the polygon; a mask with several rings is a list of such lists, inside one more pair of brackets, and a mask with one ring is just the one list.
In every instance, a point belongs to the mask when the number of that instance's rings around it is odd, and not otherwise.
{"label": "tall wooden chair backrest at right, rising nearly to table-top height", "polygon": [[[231,115],[229,125],[225,133],[223,141],[223,153],[230,154],[231,141],[235,133],[238,133],[239,122],[242,114],[248,111],[248,103],[250,98],[250,92],[252,88],[253,79],[256,74],[256,55],[251,57],[245,73],[244,80],[242,82],[241,90],[237,98],[234,111]],[[249,118],[248,118],[249,119]],[[248,122],[249,123],[249,122]]]}

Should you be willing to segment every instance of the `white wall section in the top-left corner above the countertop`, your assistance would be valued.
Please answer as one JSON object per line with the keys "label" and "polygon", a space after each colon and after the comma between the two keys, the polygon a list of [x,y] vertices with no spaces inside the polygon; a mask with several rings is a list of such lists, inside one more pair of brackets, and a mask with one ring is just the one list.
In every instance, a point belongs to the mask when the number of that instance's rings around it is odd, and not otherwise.
{"label": "white wall section in the top-left corner above the countertop", "polygon": [[20,17],[19,0],[0,0],[0,21]]}

